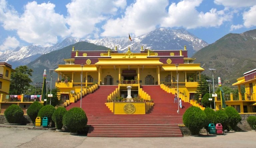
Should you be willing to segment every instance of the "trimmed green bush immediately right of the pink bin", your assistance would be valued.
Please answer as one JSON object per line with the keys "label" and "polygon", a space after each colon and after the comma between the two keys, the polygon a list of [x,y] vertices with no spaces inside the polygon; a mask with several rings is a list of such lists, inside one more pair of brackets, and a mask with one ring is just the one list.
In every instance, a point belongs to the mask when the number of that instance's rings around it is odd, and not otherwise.
{"label": "trimmed green bush immediately right of the pink bin", "polygon": [[228,115],[228,126],[231,129],[235,129],[237,123],[242,120],[241,116],[238,114],[237,110],[231,106],[226,107],[225,112]]}

